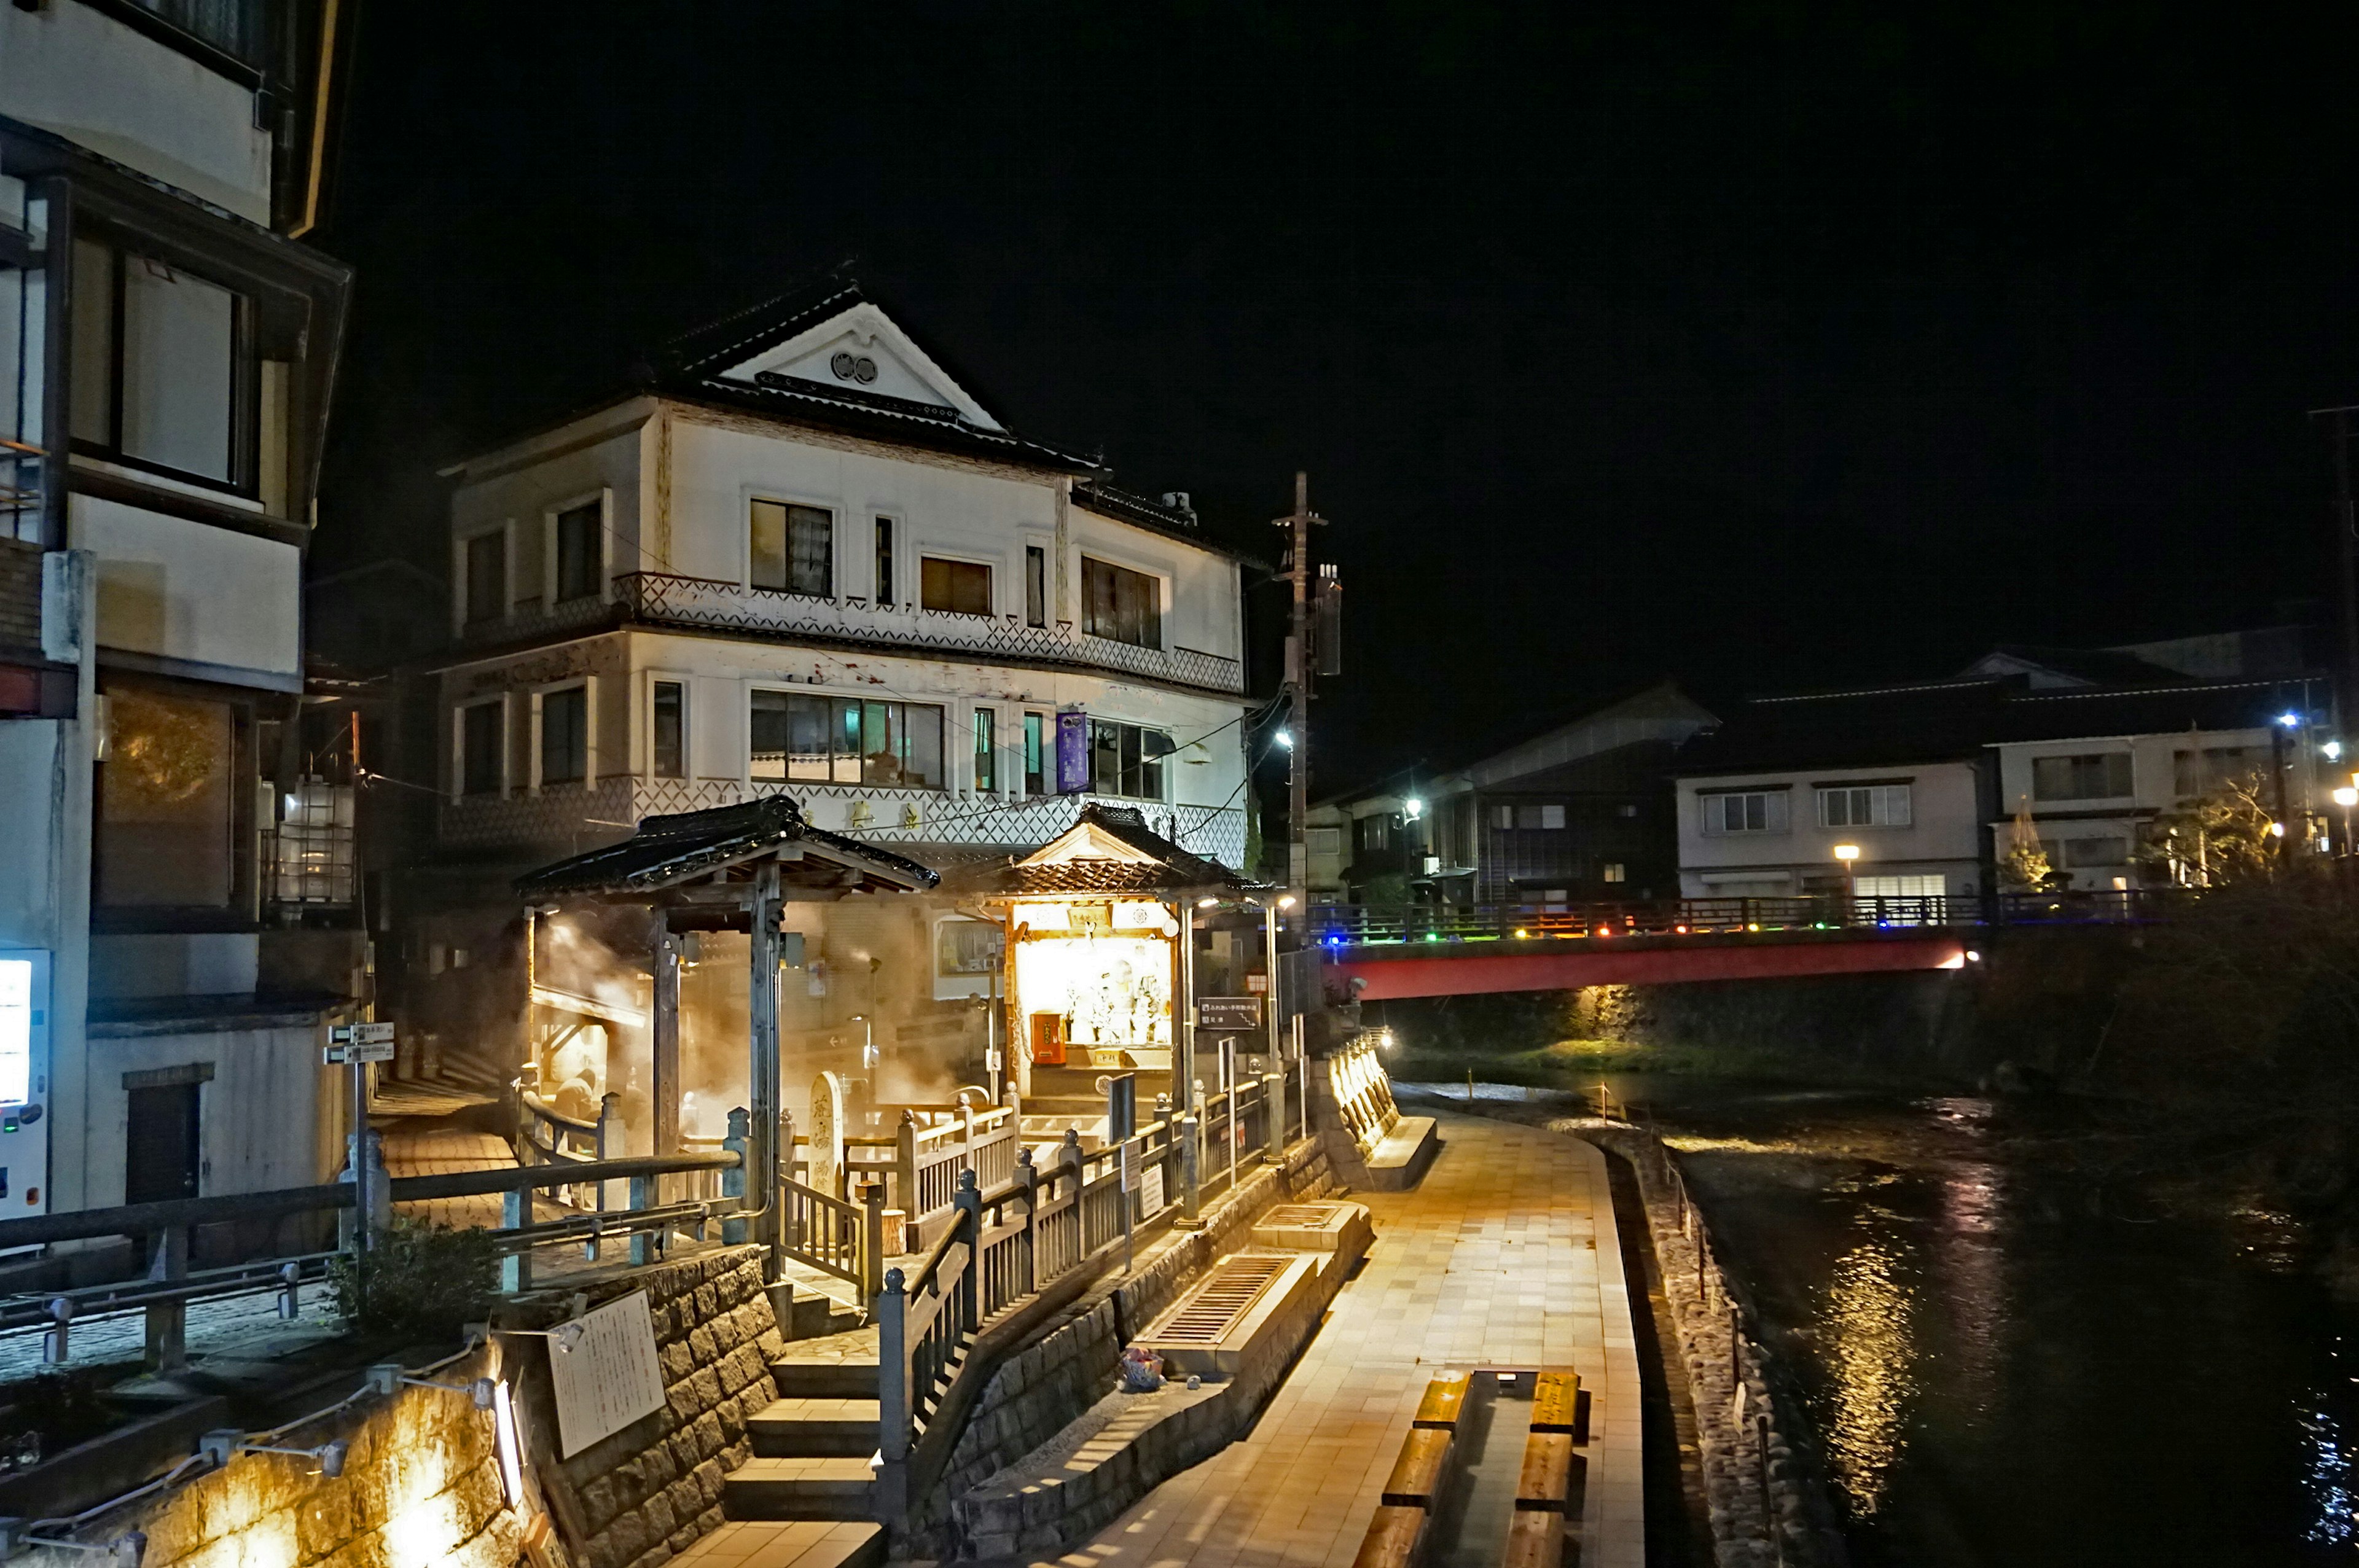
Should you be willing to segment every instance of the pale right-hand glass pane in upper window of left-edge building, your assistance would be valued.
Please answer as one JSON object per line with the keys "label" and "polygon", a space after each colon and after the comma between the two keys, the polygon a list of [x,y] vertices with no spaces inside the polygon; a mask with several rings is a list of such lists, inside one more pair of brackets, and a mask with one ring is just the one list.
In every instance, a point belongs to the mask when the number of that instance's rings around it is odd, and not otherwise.
{"label": "pale right-hand glass pane in upper window of left-edge building", "polygon": [[182,474],[231,479],[238,297],[151,257],[123,257],[118,446]]}

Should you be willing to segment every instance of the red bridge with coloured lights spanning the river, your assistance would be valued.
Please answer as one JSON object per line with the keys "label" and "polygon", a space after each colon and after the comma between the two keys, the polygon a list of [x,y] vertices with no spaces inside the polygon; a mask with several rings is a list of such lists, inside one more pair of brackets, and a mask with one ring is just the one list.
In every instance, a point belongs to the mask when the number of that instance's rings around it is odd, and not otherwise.
{"label": "red bridge with coloured lights spanning the river", "polygon": [[1540,908],[1314,905],[1333,971],[1371,1002],[1489,990],[1963,969],[1993,927],[2144,924],[2173,891],[1989,898],[1673,898]]}

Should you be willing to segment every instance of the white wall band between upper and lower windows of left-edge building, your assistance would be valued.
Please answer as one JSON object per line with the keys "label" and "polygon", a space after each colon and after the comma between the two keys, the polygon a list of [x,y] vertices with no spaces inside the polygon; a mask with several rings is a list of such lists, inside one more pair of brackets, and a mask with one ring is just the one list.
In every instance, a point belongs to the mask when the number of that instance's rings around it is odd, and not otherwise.
{"label": "white wall band between upper and lower windows of left-edge building", "polygon": [[66,526],[99,556],[99,646],[217,665],[208,674],[231,684],[302,679],[293,545],[94,495],[73,498]]}

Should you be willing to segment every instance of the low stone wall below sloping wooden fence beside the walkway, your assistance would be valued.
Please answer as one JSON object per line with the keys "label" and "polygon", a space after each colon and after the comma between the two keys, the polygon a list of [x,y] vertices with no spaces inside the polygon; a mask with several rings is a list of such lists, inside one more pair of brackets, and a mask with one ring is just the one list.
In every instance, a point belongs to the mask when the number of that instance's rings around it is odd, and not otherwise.
{"label": "low stone wall below sloping wooden fence beside the walkway", "polygon": [[1080,1419],[1118,1377],[1123,1344],[1146,1327],[1201,1269],[1243,1247],[1253,1221],[1279,1203],[1323,1198],[1335,1188],[1326,1148],[1295,1144],[1283,1165],[1264,1165],[1238,1184],[1234,1198],[1205,1214],[1203,1231],[1175,1231],[1146,1250],[1128,1280],[1092,1287],[1024,1351],[1010,1356],[984,1384],[974,1415],[951,1450],[927,1518],[913,1521],[944,1556],[967,1556],[948,1500],[1007,1469]]}

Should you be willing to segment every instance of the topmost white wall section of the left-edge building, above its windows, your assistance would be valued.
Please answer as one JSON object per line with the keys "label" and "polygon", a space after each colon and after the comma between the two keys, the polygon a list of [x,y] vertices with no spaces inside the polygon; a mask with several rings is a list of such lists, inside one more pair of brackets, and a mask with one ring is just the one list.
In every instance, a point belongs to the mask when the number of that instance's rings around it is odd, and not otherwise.
{"label": "topmost white wall section of the left-edge building, above its windows", "polygon": [[0,7],[0,116],[271,219],[271,137],[255,130],[255,94],[97,7]]}

